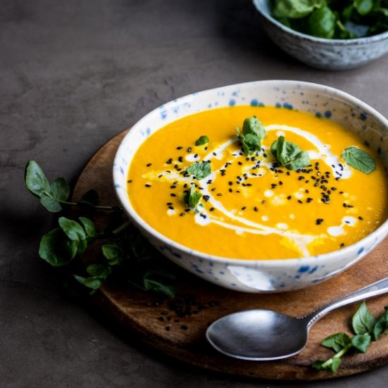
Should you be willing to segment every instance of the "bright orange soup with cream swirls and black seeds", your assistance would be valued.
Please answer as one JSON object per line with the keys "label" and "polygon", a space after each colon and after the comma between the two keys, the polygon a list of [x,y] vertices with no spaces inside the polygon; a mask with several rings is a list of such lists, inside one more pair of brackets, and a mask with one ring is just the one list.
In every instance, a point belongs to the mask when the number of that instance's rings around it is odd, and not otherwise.
{"label": "bright orange soup with cream swirls and black seeds", "polygon": [[[247,153],[236,127],[252,116],[265,137]],[[271,147],[280,138],[307,152],[309,164],[279,164]],[[348,147],[368,152],[374,171],[348,165]],[[351,245],[387,218],[387,187],[363,140],[329,119],[275,107],[212,109],[169,123],[139,147],[128,171],[131,203],[152,228],[188,248],[240,259]]]}

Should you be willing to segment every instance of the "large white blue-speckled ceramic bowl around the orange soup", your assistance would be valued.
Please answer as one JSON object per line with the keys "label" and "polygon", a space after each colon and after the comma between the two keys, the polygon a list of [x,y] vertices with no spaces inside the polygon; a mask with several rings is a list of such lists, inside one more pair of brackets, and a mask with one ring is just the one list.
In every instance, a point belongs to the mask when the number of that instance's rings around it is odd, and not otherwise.
{"label": "large white blue-speckled ceramic bowl around the orange soup", "polygon": [[350,129],[377,150],[388,168],[388,121],[344,92],[290,80],[269,80],[219,87],[162,105],[143,117],[123,138],[114,159],[116,194],[131,221],[170,260],[214,284],[236,291],[265,293],[311,286],[358,262],[388,234],[388,221],[363,240],[325,255],[288,260],[236,260],[206,255],[171,241],[133,210],[126,191],[128,168],[136,150],[159,128],[183,116],[215,107],[272,105],[326,116]]}

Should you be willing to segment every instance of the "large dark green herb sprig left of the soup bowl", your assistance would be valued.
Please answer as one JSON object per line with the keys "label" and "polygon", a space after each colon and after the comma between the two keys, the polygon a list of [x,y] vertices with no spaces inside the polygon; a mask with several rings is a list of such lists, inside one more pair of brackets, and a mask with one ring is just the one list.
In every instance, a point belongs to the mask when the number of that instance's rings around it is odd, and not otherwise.
{"label": "large dark green herb sprig left of the soup bowl", "polygon": [[[34,160],[25,168],[25,185],[30,193],[40,198],[40,203],[49,212],[58,213],[63,207],[77,207],[88,214],[96,210],[109,211],[112,218],[121,219],[122,210],[117,206],[99,205],[99,195],[89,190],[79,202],[70,202],[70,188],[64,178],[56,178],[49,183],[44,171]],[[92,210],[92,212],[90,212]],[[53,267],[70,265],[79,255],[85,253],[95,241],[101,241],[101,254],[85,268],[85,276],[73,275],[78,283],[94,293],[114,269],[121,268],[119,274],[125,274],[126,283],[138,289],[174,296],[176,284],[174,274],[160,267],[159,260],[155,265],[153,258],[157,252],[150,247],[140,232],[129,222],[118,225],[109,224],[104,231],[98,231],[92,219],[80,216],[76,219],[58,218],[58,227],[42,236],[39,255]]]}

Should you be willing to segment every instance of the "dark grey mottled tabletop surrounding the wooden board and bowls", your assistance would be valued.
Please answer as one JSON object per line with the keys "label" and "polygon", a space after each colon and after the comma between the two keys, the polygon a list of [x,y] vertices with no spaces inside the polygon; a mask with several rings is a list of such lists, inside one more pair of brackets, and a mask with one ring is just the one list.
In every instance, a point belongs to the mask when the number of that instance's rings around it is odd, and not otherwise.
{"label": "dark grey mottled tabletop surrounding the wooden board and bowls", "polygon": [[[0,386],[291,387],[168,360],[75,303],[37,256],[52,218],[28,159],[74,182],[94,152],[159,104],[249,80],[351,93],[388,115],[388,56],[348,72],[291,59],[249,0],[0,0]],[[386,387],[388,367],[314,387]]]}

